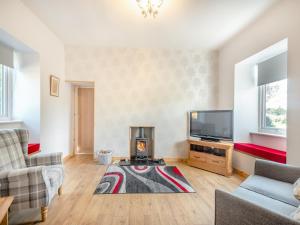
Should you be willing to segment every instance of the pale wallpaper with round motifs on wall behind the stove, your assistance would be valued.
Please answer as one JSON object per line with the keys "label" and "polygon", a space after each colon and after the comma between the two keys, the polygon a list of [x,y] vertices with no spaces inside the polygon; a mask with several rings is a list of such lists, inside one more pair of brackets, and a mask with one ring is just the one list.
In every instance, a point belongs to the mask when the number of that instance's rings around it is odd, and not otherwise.
{"label": "pale wallpaper with round motifs on wall behind the stove", "polygon": [[129,155],[129,127],[155,126],[155,156],[187,156],[187,112],[216,106],[214,52],[66,48],[68,80],[95,81],[95,151]]}

